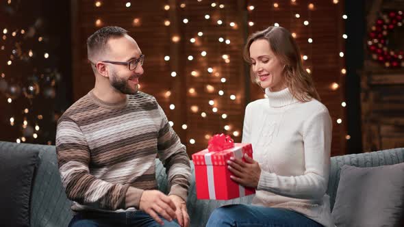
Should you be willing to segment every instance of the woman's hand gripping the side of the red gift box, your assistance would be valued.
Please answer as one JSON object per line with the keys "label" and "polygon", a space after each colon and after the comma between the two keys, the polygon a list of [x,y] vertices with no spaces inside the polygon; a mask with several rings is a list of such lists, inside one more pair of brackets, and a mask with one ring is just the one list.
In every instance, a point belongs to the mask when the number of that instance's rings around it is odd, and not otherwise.
{"label": "woman's hand gripping the side of the red gift box", "polygon": [[234,157],[227,161],[227,164],[229,164],[227,168],[233,174],[230,177],[239,185],[257,188],[261,176],[260,164],[248,155],[244,155],[244,159],[247,162]]}

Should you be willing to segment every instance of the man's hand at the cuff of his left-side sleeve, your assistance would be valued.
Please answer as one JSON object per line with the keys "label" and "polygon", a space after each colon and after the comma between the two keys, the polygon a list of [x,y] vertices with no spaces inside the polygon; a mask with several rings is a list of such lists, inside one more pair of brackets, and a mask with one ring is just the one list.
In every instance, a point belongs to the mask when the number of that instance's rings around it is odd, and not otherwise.
{"label": "man's hand at the cuff of his left-side sleeve", "polygon": [[153,217],[160,225],[163,225],[164,222],[159,215],[170,222],[177,217],[175,213],[176,205],[173,200],[157,190],[143,191],[142,197],[140,197],[139,209]]}

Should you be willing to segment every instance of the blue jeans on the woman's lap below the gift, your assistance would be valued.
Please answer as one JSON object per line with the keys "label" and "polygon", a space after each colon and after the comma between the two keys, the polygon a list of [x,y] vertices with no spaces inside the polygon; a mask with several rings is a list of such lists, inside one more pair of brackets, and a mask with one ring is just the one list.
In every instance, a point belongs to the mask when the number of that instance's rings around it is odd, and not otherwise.
{"label": "blue jeans on the woman's lap below the gift", "polygon": [[321,227],[322,225],[288,209],[233,204],[215,209],[206,226]]}

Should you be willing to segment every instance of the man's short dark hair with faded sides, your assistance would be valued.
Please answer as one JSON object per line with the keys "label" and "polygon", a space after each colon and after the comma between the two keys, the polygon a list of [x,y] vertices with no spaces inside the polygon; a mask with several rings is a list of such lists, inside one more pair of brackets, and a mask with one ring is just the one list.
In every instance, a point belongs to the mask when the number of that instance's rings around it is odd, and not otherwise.
{"label": "man's short dark hair with faded sides", "polygon": [[122,27],[108,26],[95,31],[87,39],[87,57],[92,60],[93,57],[108,51],[107,42],[110,38],[120,38],[127,34],[127,30]]}

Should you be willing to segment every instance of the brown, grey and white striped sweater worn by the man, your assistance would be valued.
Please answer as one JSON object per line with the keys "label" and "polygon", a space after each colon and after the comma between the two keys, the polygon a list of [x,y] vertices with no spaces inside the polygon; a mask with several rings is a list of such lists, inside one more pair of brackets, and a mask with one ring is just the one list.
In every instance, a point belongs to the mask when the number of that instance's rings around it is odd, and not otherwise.
{"label": "brown, grey and white striped sweater worn by the man", "polygon": [[[92,91],[58,120],[56,152],[73,211],[138,209],[143,190],[157,189],[155,158],[166,167],[170,193],[186,200],[190,162],[155,98],[138,92],[105,103]],[[125,206],[129,187],[136,207]]]}

